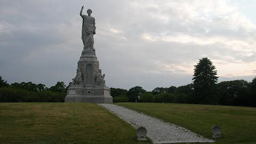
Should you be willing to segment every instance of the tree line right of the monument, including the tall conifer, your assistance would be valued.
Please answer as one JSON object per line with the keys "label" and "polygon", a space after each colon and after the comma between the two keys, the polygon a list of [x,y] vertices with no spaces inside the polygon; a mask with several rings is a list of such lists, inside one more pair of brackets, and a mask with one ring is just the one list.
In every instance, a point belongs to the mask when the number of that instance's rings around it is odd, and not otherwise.
{"label": "tree line right of the monument, including the tall conifer", "polygon": [[256,107],[256,77],[217,83],[217,70],[208,58],[194,68],[193,83],[184,86],[156,87],[147,92],[141,86],[130,90],[111,88],[114,102],[164,102]]}

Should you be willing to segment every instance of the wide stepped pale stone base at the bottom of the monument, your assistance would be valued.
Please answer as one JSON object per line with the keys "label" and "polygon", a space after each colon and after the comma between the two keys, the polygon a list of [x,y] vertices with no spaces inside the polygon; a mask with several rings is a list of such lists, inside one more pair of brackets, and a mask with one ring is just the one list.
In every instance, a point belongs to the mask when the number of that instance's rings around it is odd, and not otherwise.
{"label": "wide stepped pale stone base at the bottom of the monument", "polygon": [[69,87],[65,102],[113,103],[109,87]]}

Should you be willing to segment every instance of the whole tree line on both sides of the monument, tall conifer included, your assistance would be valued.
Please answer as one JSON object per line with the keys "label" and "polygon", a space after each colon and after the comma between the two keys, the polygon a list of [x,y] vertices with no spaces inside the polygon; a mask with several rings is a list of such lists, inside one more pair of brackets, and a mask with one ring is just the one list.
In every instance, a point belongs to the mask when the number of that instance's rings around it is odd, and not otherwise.
{"label": "whole tree line on both sides of the monument, tall conifer included", "polygon": [[[179,87],[156,87],[147,92],[141,86],[129,90],[111,87],[113,102],[195,103],[209,105],[256,107],[256,77],[217,83],[217,70],[208,58],[199,60],[194,68],[193,83]],[[0,102],[64,102],[69,86],[58,82],[47,88],[44,84],[22,82],[8,84],[0,76]]]}

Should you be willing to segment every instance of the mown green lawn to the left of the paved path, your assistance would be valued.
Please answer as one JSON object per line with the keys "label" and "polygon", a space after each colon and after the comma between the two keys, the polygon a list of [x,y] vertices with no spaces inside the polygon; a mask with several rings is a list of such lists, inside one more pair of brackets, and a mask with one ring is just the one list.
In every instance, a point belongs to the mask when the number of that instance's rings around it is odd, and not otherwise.
{"label": "mown green lawn to the left of the paved path", "polygon": [[137,137],[91,103],[0,103],[0,143],[137,143]]}

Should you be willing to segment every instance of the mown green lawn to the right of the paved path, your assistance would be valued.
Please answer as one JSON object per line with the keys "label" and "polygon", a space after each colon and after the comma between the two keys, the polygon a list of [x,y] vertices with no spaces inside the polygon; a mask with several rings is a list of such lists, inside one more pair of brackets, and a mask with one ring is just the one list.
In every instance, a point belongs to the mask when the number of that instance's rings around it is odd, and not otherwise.
{"label": "mown green lawn to the right of the paved path", "polygon": [[213,125],[222,126],[218,143],[256,143],[256,108],[177,103],[117,103],[177,124],[212,139]]}

